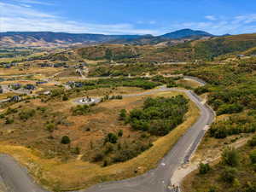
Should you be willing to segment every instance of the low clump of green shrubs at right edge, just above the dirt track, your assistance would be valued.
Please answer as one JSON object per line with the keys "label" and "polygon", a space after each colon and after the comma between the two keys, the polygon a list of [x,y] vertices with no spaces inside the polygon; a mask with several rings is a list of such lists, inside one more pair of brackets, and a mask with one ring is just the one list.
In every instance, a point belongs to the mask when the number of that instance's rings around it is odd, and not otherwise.
{"label": "low clump of green shrubs at right edge, just above the dirt track", "polygon": [[210,136],[224,138],[240,133],[250,133],[256,131],[256,119],[247,113],[236,114],[228,119],[215,122],[211,125]]}

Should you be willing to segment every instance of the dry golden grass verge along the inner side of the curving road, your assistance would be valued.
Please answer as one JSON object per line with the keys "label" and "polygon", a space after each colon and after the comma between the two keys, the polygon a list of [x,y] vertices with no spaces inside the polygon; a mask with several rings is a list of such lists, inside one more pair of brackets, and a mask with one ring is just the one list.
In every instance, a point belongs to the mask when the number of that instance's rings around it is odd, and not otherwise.
{"label": "dry golden grass verge along the inner side of the curving road", "polygon": [[[154,96],[176,96],[177,94],[183,93],[164,92]],[[118,104],[119,101],[115,101],[115,103],[103,102],[102,106],[114,108]],[[199,109],[195,103],[189,102],[189,112],[186,114],[186,119],[182,125],[179,125],[166,137],[160,137],[154,142],[152,148],[137,158],[107,167],[79,159],[70,160],[66,163],[56,159],[47,160],[38,151],[20,146],[4,145],[4,143],[0,145],[0,152],[13,155],[16,160],[28,168],[38,182],[49,186],[51,189],[87,188],[96,183],[135,177],[154,168],[170,148],[177,143],[178,138],[195,123],[199,114]],[[137,174],[135,173],[136,170],[139,170]]]}

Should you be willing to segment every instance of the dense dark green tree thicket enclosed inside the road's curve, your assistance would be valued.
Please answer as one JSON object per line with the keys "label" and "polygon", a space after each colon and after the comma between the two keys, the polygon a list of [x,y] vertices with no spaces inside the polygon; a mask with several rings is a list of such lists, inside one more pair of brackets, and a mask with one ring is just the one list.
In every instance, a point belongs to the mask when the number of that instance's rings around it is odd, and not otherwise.
{"label": "dense dark green tree thicket enclosed inside the road's curve", "polygon": [[165,136],[183,122],[187,111],[188,100],[181,95],[148,98],[143,104],[143,109],[133,109],[129,115],[121,111],[119,119],[125,119],[134,130]]}

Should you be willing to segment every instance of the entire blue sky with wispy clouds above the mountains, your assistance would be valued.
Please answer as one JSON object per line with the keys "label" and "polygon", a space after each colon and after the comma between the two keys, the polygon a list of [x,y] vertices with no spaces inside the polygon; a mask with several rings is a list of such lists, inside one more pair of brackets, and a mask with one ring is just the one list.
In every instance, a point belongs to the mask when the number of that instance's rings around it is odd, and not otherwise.
{"label": "entire blue sky with wispy clouds above the mountains", "polygon": [[0,32],[256,32],[255,0],[0,0]]}

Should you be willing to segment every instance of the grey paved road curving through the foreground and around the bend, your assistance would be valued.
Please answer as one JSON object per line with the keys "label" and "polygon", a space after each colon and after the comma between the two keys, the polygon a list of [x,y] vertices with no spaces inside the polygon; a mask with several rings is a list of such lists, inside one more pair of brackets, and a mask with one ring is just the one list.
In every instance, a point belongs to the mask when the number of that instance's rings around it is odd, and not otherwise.
{"label": "grey paved road curving through the foreground and around the bend", "polygon": [[[175,88],[166,88],[161,86],[157,90],[151,90],[142,94],[131,94],[128,96],[143,96],[160,91],[183,91],[189,96],[189,99],[201,110],[201,116],[194,125],[189,128],[183,137],[181,137],[175,146],[166,156],[160,160],[159,166],[142,176],[126,179],[119,182],[97,184],[90,189],[79,190],[79,192],[166,192],[172,183],[170,178],[178,166],[189,160],[189,157],[195,151],[198,143],[205,134],[205,128],[211,124],[214,119],[214,112],[206,104],[202,104],[201,98],[196,96],[191,90],[178,90]],[[19,164],[8,155],[0,155],[0,175],[4,183],[11,188],[9,192],[43,192],[38,185],[32,182]]]}

